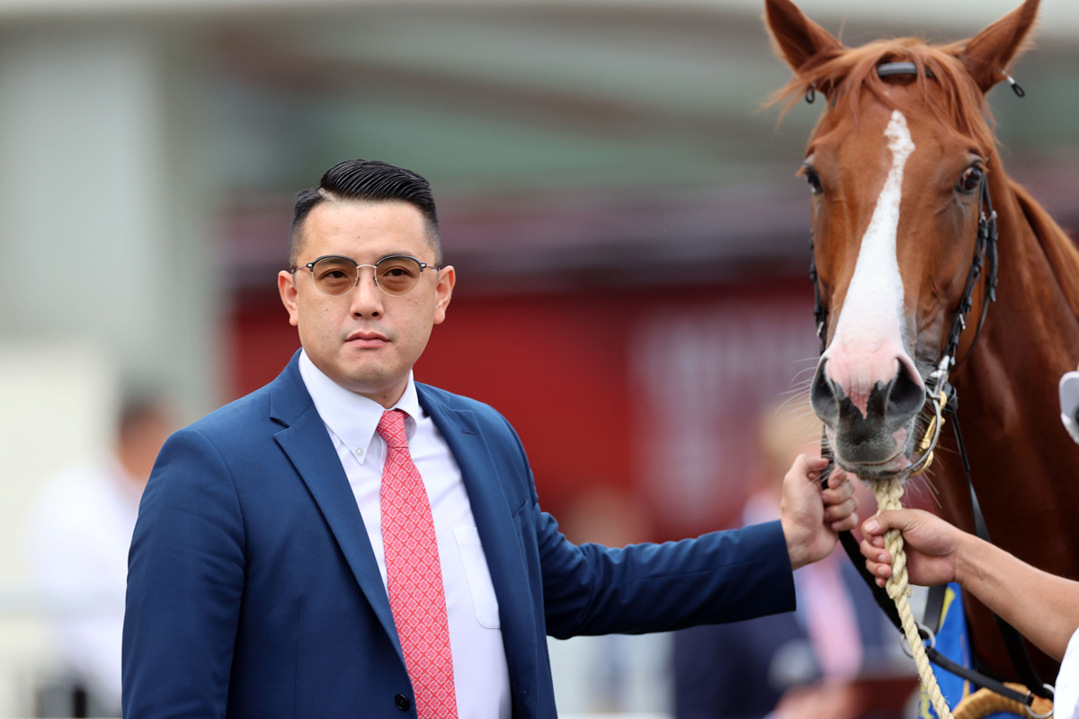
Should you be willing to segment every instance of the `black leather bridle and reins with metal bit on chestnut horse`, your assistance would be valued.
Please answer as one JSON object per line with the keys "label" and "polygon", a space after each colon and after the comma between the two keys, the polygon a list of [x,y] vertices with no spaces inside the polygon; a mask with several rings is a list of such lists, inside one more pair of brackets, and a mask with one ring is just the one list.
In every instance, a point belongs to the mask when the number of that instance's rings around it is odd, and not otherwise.
{"label": "black leather bridle and reins with metal bit on chestnut horse", "polygon": [[[916,74],[917,72],[917,66],[914,63],[885,63],[877,66],[877,74],[879,77]],[[925,69],[925,73],[927,78],[933,77],[932,72],[928,68]],[[1016,85],[1011,78],[1008,78],[1008,80],[1011,82],[1013,89],[1019,87],[1019,85]],[[1016,95],[1020,97],[1022,97],[1021,93],[1021,89],[1016,91]],[[944,345],[944,351],[937,363],[937,369],[928,377],[928,379],[932,381],[932,388],[930,389],[930,383],[926,383],[925,404],[931,405],[935,417],[930,423],[929,427],[927,427],[926,435],[917,447],[921,453],[921,456],[914,464],[912,464],[911,468],[907,469],[907,475],[920,473],[928,469],[929,464],[932,461],[933,448],[940,438],[941,425],[943,424],[942,415],[947,414],[952,421],[952,427],[955,430],[956,443],[958,445],[959,457],[962,462],[964,475],[967,480],[967,488],[970,493],[975,533],[985,541],[989,541],[989,534],[985,527],[985,520],[982,516],[982,510],[978,502],[978,496],[974,494],[974,486],[970,481],[970,462],[967,458],[967,450],[962,442],[962,433],[959,430],[959,420],[956,414],[958,411],[958,397],[956,396],[955,387],[953,387],[947,379],[952,370],[962,363],[973,351],[974,345],[978,343],[978,338],[982,334],[982,328],[985,324],[985,317],[988,314],[989,304],[995,302],[997,299],[997,213],[993,210],[993,201],[989,196],[988,176],[983,174],[981,192],[979,195],[978,235],[974,241],[974,255],[971,260],[970,271],[967,274],[967,284],[964,287],[959,305],[955,310],[947,342]],[[824,306],[824,301],[820,292],[820,281],[817,274],[816,249],[814,246],[811,230],[809,233],[809,279],[812,281],[815,301],[814,319],[817,323],[817,336],[820,340],[820,354],[823,355],[824,350],[828,349],[829,310]],[[974,338],[971,341],[970,347],[967,349],[967,354],[957,361],[956,354],[959,349],[959,335],[967,329],[967,320],[970,318],[970,313],[974,306],[974,290],[978,287],[978,280],[980,279],[983,269],[985,271],[985,292],[982,299],[981,313],[978,318],[978,329],[974,332]],[[830,460],[828,468],[821,472],[820,480],[821,484],[827,486],[828,476],[831,474],[831,470],[835,466],[835,460],[832,457],[831,447],[828,444],[827,437],[821,438],[821,452]],[[877,586],[876,578],[873,577],[868,569],[865,569],[864,562],[862,562],[861,551],[859,550],[858,542],[855,540],[853,535],[851,535],[850,531],[839,533],[839,540],[844,550],[847,552],[847,555],[858,568],[862,579],[869,585],[870,590],[872,590],[873,597],[876,599],[877,605],[884,610],[885,614],[888,616],[891,623],[894,624],[902,633],[901,622],[899,613],[896,610],[896,605],[892,603],[887,592]],[[942,590],[943,587],[932,587],[930,590],[930,602],[929,607],[927,607],[926,619],[928,620],[930,616],[934,616],[935,619],[931,620],[932,624],[938,624],[940,620],[941,604],[944,599],[944,593]],[[1016,675],[1019,675],[1023,683],[1025,683],[1029,689],[1025,695],[1013,689],[1005,687],[1001,682],[991,677],[986,677],[980,672],[968,669],[959,664],[956,664],[948,658],[940,654],[932,646],[927,647],[926,650],[929,655],[929,660],[945,670],[962,677],[978,687],[984,687],[993,692],[996,692],[997,694],[1001,694],[1008,699],[1024,704],[1028,710],[1035,695],[1043,699],[1052,699],[1052,690],[1050,689],[1047,691],[1046,686],[1042,683],[1037,670],[1034,668],[1034,664],[1030,662],[1022,635],[1020,635],[1013,626],[1000,619],[1000,617],[996,613],[994,613],[993,617],[1000,630],[1001,638],[1003,639],[1005,647],[1008,650],[1008,656],[1011,660],[1012,667],[1015,669]],[[929,638],[939,627],[929,628],[923,626],[920,628],[924,630],[924,633],[927,635],[926,638]]]}

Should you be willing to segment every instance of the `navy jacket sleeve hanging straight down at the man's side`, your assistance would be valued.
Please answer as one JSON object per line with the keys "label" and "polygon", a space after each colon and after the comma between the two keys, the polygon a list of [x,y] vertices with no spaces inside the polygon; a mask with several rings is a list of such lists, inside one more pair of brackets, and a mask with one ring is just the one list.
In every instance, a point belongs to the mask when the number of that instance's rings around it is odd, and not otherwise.
{"label": "navy jacket sleeve hanging straight down at the man's side", "polygon": [[196,430],[177,432],[150,475],[127,559],[126,719],[224,717],[244,541],[220,453]]}

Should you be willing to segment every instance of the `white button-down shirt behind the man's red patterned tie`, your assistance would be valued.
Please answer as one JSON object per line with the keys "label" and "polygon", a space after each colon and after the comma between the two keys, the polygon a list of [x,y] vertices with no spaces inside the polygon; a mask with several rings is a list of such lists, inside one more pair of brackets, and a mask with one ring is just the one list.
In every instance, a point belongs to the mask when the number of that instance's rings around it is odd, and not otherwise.
{"label": "white button-down shirt behind the man's red patterned tie", "polygon": [[[349,478],[385,585],[380,489],[387,447],[374,431],[384,407],[327,377],[306,352],[300,354],[300,376]],[[457,717],[509,719],[509,670],[502,645],[498,602],[461,469],[435,423],[420,406],[411,374],[405,393],[391,409],[408,414],[405,433],[409,453],[427,489],[435,521],[450,624]]]}

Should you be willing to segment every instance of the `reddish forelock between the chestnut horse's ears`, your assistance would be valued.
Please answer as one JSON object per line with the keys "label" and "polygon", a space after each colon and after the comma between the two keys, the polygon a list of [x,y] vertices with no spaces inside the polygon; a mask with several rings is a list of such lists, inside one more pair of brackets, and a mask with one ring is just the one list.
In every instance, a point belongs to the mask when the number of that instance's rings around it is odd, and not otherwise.
{"label": "reddish forelock between the chestnut horse's ears", "polygon": [[[996,147],[993,116],[978,83],[957,57],[961,44],[930,45],[917,38],[877,40],[861,47],[822,53],[805,64],[767,105],[787,101],[782,115],[802,99],[809,88],[828,98],[823,117],[850,113],[857,121],[865,93],[889,110],[907,116],[927,112],[940,122],[972,138],[985,153]],[[889,93],[889,85],[910,82],[892,75],[880,78],[876,68],[883,63],[914,63],[917,93]],[[928,78],[926,69],[933,75]],[[902,77],[900,77],[902,78]],[[939,88],[934,92],[934,86]]]}

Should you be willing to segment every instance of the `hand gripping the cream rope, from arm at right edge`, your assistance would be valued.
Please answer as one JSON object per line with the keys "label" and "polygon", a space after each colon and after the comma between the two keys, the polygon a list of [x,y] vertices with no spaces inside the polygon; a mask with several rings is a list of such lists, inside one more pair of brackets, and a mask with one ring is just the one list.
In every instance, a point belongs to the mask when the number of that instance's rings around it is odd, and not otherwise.
{"label": "hand gripping the cream rope, from arm at right edge", "polygon": [[959,582],[960,550],[966,535],[944,520],[919,509],[892,510],[872,516],[862,525],[861,550],[865,568],[884,586],[891,577],[891,553],[884,548],[884,534],[899,529],[906,552],[906,572],[912,584],[933,586]]}

